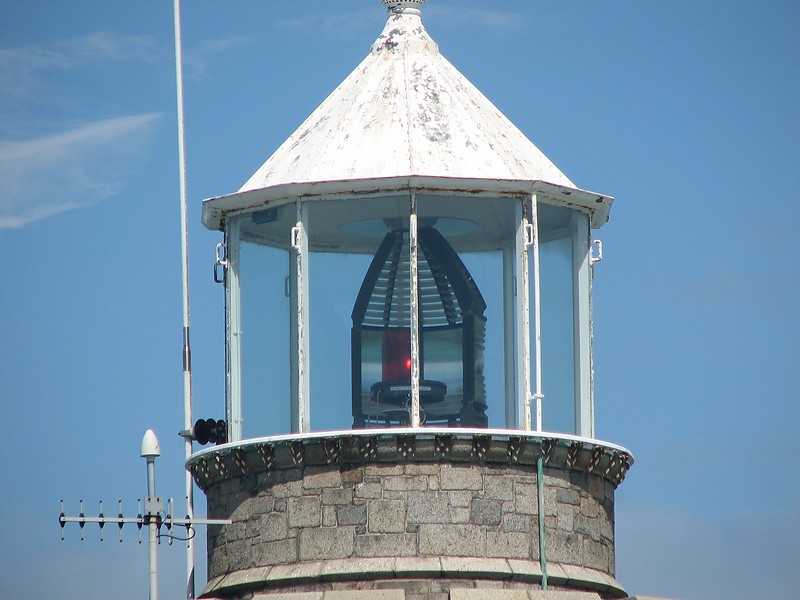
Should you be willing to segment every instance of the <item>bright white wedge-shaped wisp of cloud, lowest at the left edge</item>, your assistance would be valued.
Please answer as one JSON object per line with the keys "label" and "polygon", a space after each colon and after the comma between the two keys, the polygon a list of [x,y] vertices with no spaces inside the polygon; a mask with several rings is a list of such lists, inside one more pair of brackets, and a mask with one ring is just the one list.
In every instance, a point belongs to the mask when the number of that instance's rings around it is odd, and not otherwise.
{"label": "bright white wedge-shaped wisp of cloud, lowest at the left edge", "polygon": [[0,142],[0,229],[102,202],[143,155],[158,113],[116,117],[26,141]]}

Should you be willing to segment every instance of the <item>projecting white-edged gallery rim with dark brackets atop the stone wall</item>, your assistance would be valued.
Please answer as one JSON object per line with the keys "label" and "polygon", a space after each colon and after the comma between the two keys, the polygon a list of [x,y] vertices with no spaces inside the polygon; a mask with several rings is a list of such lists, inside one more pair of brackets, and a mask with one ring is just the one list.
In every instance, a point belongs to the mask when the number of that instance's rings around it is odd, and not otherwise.
{"label": "projecting white-edged gallery rim with dark brackets atop the stone wall", "polygon": [[430,427],[274,435],[196,452],[186,461],[201,489],[233,475],[292,466],[452,461],[536,465],[602,475],[616,487],[634,458],[610,442],[575,435],[504,429]]}

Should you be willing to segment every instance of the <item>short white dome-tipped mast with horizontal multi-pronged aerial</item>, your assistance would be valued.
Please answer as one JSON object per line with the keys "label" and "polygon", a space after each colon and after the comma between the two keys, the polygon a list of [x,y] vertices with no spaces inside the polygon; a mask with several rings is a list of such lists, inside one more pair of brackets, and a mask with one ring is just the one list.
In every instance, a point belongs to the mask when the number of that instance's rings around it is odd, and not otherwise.
{"label": "short white dome-tipped mast with horizontal multi-pronged aerial", "polygon": [[[122,528],[126,524],[135,524],[139,532],[139,543],[142,543],[142,528],[147,528],[148,546],[150,550],[150,600],[158,600],[158,544],[161,538],[166,537],[169,544],[174,540],[189,542],[194,538],[196,525],[230,525],[230,519],[195,519],[190,515],[185,518],[174,516],[174,503],[172,498],[167,499],[166,510],[164,499],[156,495],[156,458],[161,455],[156,434],[148,429],[142,439],[140,456],[147,461],[147,496],[139,500],[138,512],[135,517],[125,517],[122,514],[122,500],[119,501],[119,513],[116,517],[106,516],[103,512],[103,501],[100,501],[100,511],[96,517],[87,517],[83,511],[83,500],[80,501],[80,514],[67,516],[64,514],[64,501],[61,501],[61,514],[58,522],[61,525],[61,539],[64,539],[64,526],[67,523],[77,523],[81,528],[81,540],[84,539],[84,527],[87,523],[96,523],[100,529],[100,540],[103,540],[103,529],[106,525],[117,525],[119,528],[119,541],[122,541]],[[185,527],[186,536],[173,533],[173,527]],[[162,532],[166,529],[166,533]]]}

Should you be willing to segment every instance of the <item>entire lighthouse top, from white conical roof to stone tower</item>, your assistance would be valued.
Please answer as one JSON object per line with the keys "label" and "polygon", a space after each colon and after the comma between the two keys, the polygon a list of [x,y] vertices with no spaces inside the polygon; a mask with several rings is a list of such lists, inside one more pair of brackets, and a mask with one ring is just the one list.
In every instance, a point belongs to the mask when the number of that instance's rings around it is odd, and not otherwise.
{"label": "entire lighthouse top, from white conical roof to stone tower", "polygon": [[[225,431],[188,462],[208,598],[625,598],[575,185],[382,0],[360,65],[237,192]],[[602,407],[600,406],[600,410]]]}

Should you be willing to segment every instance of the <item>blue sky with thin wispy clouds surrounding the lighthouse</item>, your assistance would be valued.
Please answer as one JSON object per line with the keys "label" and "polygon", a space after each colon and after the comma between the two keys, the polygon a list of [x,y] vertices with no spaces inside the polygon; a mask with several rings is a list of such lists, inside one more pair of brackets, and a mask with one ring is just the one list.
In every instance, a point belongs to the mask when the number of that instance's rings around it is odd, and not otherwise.
{"label": "blue sky with thin wispy clouds surrounding the lighthouse", "polygon": [[[198,416],[223,406],[221,238],[200,202],[239,188],[383,14],[184,3]],[[618,578],[677,598],[793,596],[800,4],[430,0],[423,15],[568,177],[617,199],[596,232],[594,333],[598,437],[636,456]],[[134,530],[61,542],[56,518],[61,498],[134,513],[148,427],[159,494],[183,494],[172,43],[171,2],[0,5],[1,599],[146,594]],[[161,557],[162,595],[180,597],[183,551]]]}

